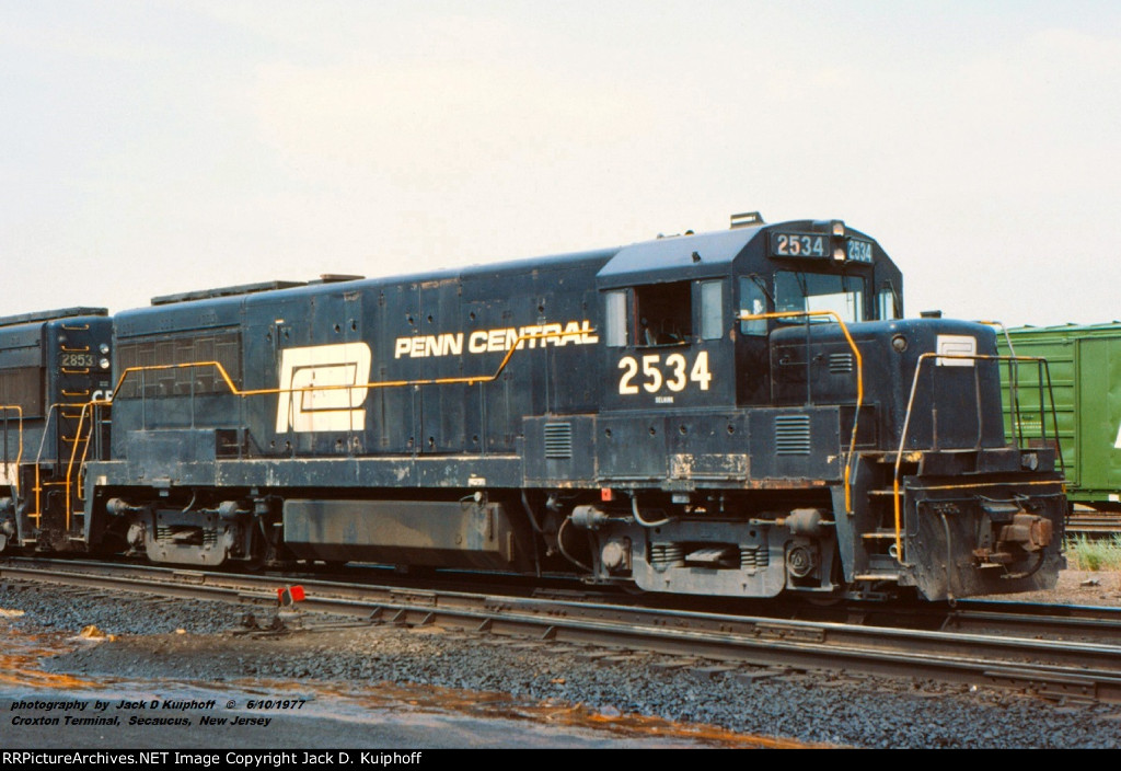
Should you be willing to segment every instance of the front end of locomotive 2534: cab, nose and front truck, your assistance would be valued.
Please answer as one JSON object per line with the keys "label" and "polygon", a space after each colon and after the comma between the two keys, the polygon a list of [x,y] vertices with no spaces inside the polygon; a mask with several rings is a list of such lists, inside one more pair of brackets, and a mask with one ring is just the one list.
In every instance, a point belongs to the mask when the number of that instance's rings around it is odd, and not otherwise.
{"label": "front end of locomotive 2534: cab, nose and front truck", "polygon": [[1054,580],[1060,477],[1053,452],[1006,444],[992,331],[904,321],[872,239],[840,221],[661,239],[597,286],[600,481],[623,503],[575,521],[601,579],[932,600]]}

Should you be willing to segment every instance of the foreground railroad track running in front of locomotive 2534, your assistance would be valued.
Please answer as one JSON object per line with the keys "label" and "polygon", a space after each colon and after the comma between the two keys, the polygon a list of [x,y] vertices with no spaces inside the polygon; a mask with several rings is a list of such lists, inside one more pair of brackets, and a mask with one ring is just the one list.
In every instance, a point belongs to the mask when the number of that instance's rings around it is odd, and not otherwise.
{"label": "foreground railroad track running in front of locomotive 2534", "polygon": [[[277,607],[277,591],[291,583],[281,576],[21,559],[0,566],[0,579],[268,609]],[[476,634],[641,650],[728,666],[843,669],[1121,703],[1121,644],[1071,639],[1093,630],[1102,640],[1121,640],[1117,609],[1049,606],[1045,612],[1016,604],[1013,611],[978,603],[945,611],[939,629],[930,630],[914,628],[933,623],[929,611],[924,611],[921,623],[899,626],[883,625],[886,616],[879,611],[859,609],[842,623],[303,577],[298,583],[306,595],[299,604],[304,612],[369,623],[438,624]],[[896,619],[907,615],[893,613]],[[982,629],[985,633],[974,631]]]}

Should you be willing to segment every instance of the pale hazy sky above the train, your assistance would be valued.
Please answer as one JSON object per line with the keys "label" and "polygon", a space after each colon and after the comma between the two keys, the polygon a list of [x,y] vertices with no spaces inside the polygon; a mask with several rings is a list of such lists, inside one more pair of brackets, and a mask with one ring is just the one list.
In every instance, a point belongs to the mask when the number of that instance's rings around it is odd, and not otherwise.
{"label": "pale hazy sky above the train", "polygon": [[0,0],[0,316],[844,220],[1121,318],[1117,0]]}

